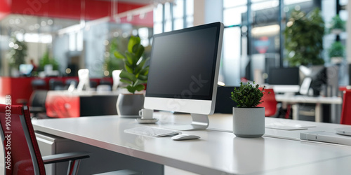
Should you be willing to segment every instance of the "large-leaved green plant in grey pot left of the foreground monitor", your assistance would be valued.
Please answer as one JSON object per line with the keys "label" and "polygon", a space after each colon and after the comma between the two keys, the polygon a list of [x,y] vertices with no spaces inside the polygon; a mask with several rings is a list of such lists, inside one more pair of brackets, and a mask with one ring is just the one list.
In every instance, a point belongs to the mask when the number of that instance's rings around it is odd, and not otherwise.
{"label": "large-leaved green plant in grey pot left of the foreground monitor", "polygon": [[138,116],[144,106],[144,94],[136,94],[135,91],[145,89],[149,66],[145,66],[148,58],[143,57],[144,46],[140,44],[140,38],[131,36],[128,42],[128,50],[124,54],[114,52],[114,56],[124,61],[124,69],[119,74],[121,82],[125,83],[126,89],[131,94],[119,94],[117,99],[117,113],[121,116]]}

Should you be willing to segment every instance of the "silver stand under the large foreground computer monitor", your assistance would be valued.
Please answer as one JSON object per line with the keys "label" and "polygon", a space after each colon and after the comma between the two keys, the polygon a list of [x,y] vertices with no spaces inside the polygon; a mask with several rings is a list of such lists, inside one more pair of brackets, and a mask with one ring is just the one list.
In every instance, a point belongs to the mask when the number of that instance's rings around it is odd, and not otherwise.
{"label": "silver stand under the large foreground computer monitor", "polygon": [[208,127],[209,120],[207,115],[191,113],[192,123],[190,125],[167,125],[165,127],[172,130],[191,131],[205,130]]}

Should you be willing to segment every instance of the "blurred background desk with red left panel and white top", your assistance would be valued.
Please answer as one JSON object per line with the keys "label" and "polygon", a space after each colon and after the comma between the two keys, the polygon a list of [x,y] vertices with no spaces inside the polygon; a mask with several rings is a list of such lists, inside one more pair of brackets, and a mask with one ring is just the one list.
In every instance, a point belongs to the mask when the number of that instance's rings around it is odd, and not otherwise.
{"label": "blurred background desk with red left panel and white top", "polygon": [[116,115],[117,92],[50,90],[46,115],[51,118]]}

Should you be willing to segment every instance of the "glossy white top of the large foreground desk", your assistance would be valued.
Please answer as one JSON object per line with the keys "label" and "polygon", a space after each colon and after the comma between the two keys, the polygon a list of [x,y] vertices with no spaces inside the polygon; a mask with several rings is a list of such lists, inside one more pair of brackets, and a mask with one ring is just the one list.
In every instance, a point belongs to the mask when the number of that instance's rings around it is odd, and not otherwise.
{"label": "glossy white top of the large foreground desk", "polygon": [[[159,113],[157,117],[160,127],[169,123],[190,123],[190,116],[186,115]],[[210,116],[210,127],[231,130],[231,118],[231,115]],[[266,119],[266,123],[284,120]],[[33,120],[32,123],[34,130],[197,174],[321,174],[323,169],[322,174],[328,171],[338,174],[351,172],[351,166],[345,165],[351,160],[350,146],[298,141],[298,131],[266,129],[267,136],[280,135],[286,139],[244,139],[230,132],[201,130],[183,132],[199,135],[199,140],[173,141],[170,137],[125,133],[128,128],[145,125],[118,116]],[[328,127],[328,130],[340,127],[336,124],[314,124]]]}

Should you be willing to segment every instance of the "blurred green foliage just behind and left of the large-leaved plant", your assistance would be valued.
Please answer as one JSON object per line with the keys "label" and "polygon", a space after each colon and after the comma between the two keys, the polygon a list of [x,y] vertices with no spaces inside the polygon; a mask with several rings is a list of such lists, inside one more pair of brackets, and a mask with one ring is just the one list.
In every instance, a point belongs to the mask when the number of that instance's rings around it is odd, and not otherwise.
{"label": "blurred green foliage just behind and left of the large-leaved plant", "polygon": [[104,70],[109,71],[109,75],[112,76],[112,71],[123,69],[124,62],[122,59],[116,59],[114,57],[114,51],[119,50],[119,41],[117,38],[113,38],[110,42],[108,57],[105,57]]}

